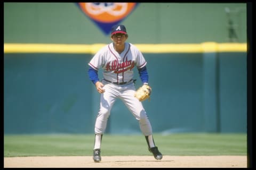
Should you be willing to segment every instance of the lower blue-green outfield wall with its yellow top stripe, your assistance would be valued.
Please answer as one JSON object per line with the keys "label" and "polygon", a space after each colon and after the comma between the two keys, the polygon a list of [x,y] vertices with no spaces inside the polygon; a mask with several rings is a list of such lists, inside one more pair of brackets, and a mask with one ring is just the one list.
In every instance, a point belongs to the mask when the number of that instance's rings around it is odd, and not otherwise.
{"label": "lower blue-green outfield wall with its yellow top stripe", "polygon": [[[16,47],[4,45],[4,134],[93,133],[100,95],[87,75],[92,48]],[[154,132],[246,132],[246,44],[138,47],[148,61],[153,93],[143,105]],[[140,133],[119,100],[106,132]]]}

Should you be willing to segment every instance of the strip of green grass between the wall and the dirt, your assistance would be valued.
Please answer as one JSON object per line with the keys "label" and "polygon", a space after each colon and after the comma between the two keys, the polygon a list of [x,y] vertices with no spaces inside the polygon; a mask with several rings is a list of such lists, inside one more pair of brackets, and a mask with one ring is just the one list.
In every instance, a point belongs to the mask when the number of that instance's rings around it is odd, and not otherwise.
{"label": "strip of green grass between the wall and the dirt", "polygon": [[[163,155],[247,155],[247,135],[223,133],[154,134]],[[91,156],[94,134],[4,135],[4,157]],[[143,135],[104,134],[105,156],[149,156]]]}

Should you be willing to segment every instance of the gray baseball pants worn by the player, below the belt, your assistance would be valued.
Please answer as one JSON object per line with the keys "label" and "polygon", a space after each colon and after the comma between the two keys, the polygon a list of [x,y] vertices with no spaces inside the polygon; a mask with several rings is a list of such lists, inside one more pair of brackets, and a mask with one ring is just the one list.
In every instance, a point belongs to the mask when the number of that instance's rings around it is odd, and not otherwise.
{"label": "gray baseball pants worn by the player, below the belt", "polygon": [[[105,86],[105,92],[100,97],[100,109],[95,121],[95,134],[103,134],[105,132],[108,117],[111,108],[116,99],[121,99],[133,116],[139,121],[140,130],[145,135],[152,134],[152,128],[148,119],[147,113],[142,106],[142,103],[134,97],[135,86],[133,82],[125,85],[116,85],[102,81]],[[122,114],[122,112],[120,112]],[[125,122],[125,120],[123,120]]]}

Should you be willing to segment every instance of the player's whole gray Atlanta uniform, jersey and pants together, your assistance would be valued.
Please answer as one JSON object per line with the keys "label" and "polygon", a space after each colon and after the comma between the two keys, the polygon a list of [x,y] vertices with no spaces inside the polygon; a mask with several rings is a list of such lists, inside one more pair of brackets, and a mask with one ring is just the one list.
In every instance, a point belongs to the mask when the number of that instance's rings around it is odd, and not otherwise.
{"label": "player's whole gray Atlanta uniform, jersey and pants together", "polygon": [[121,54],[117,53],[114,44],[110,43],[94,55],[89,65],[95,70],[102,67],[102,83],[105,84],[105,92],[101,94],[100,109],[95,122],[95,133],[104,133],[111,107],[115,100],[120,98],[139,121],[142,133],[146,136],[152,134],[147,113],[141,102],[134,97],[133,68],[140,69],[146,64],[141,52],[131,43],[125,43],[125,49]]}

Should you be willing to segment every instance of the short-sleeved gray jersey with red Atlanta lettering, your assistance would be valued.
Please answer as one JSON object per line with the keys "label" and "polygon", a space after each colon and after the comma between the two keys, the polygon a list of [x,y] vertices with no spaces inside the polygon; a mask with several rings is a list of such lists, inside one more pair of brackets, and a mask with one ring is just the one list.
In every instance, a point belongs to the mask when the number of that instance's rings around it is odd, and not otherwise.
{"label": "short-sleeved gray jersey with red Atlanta lettering", "polygon": [[114,49],[114,43],[110,43],[99,50],[89,65],[94,70],[103,69],[103,78],[113,82],[126,82],[133,78],[133,68],[146,66],[147,62],[137,47],[131,43],[125,43],[121,54]]}

